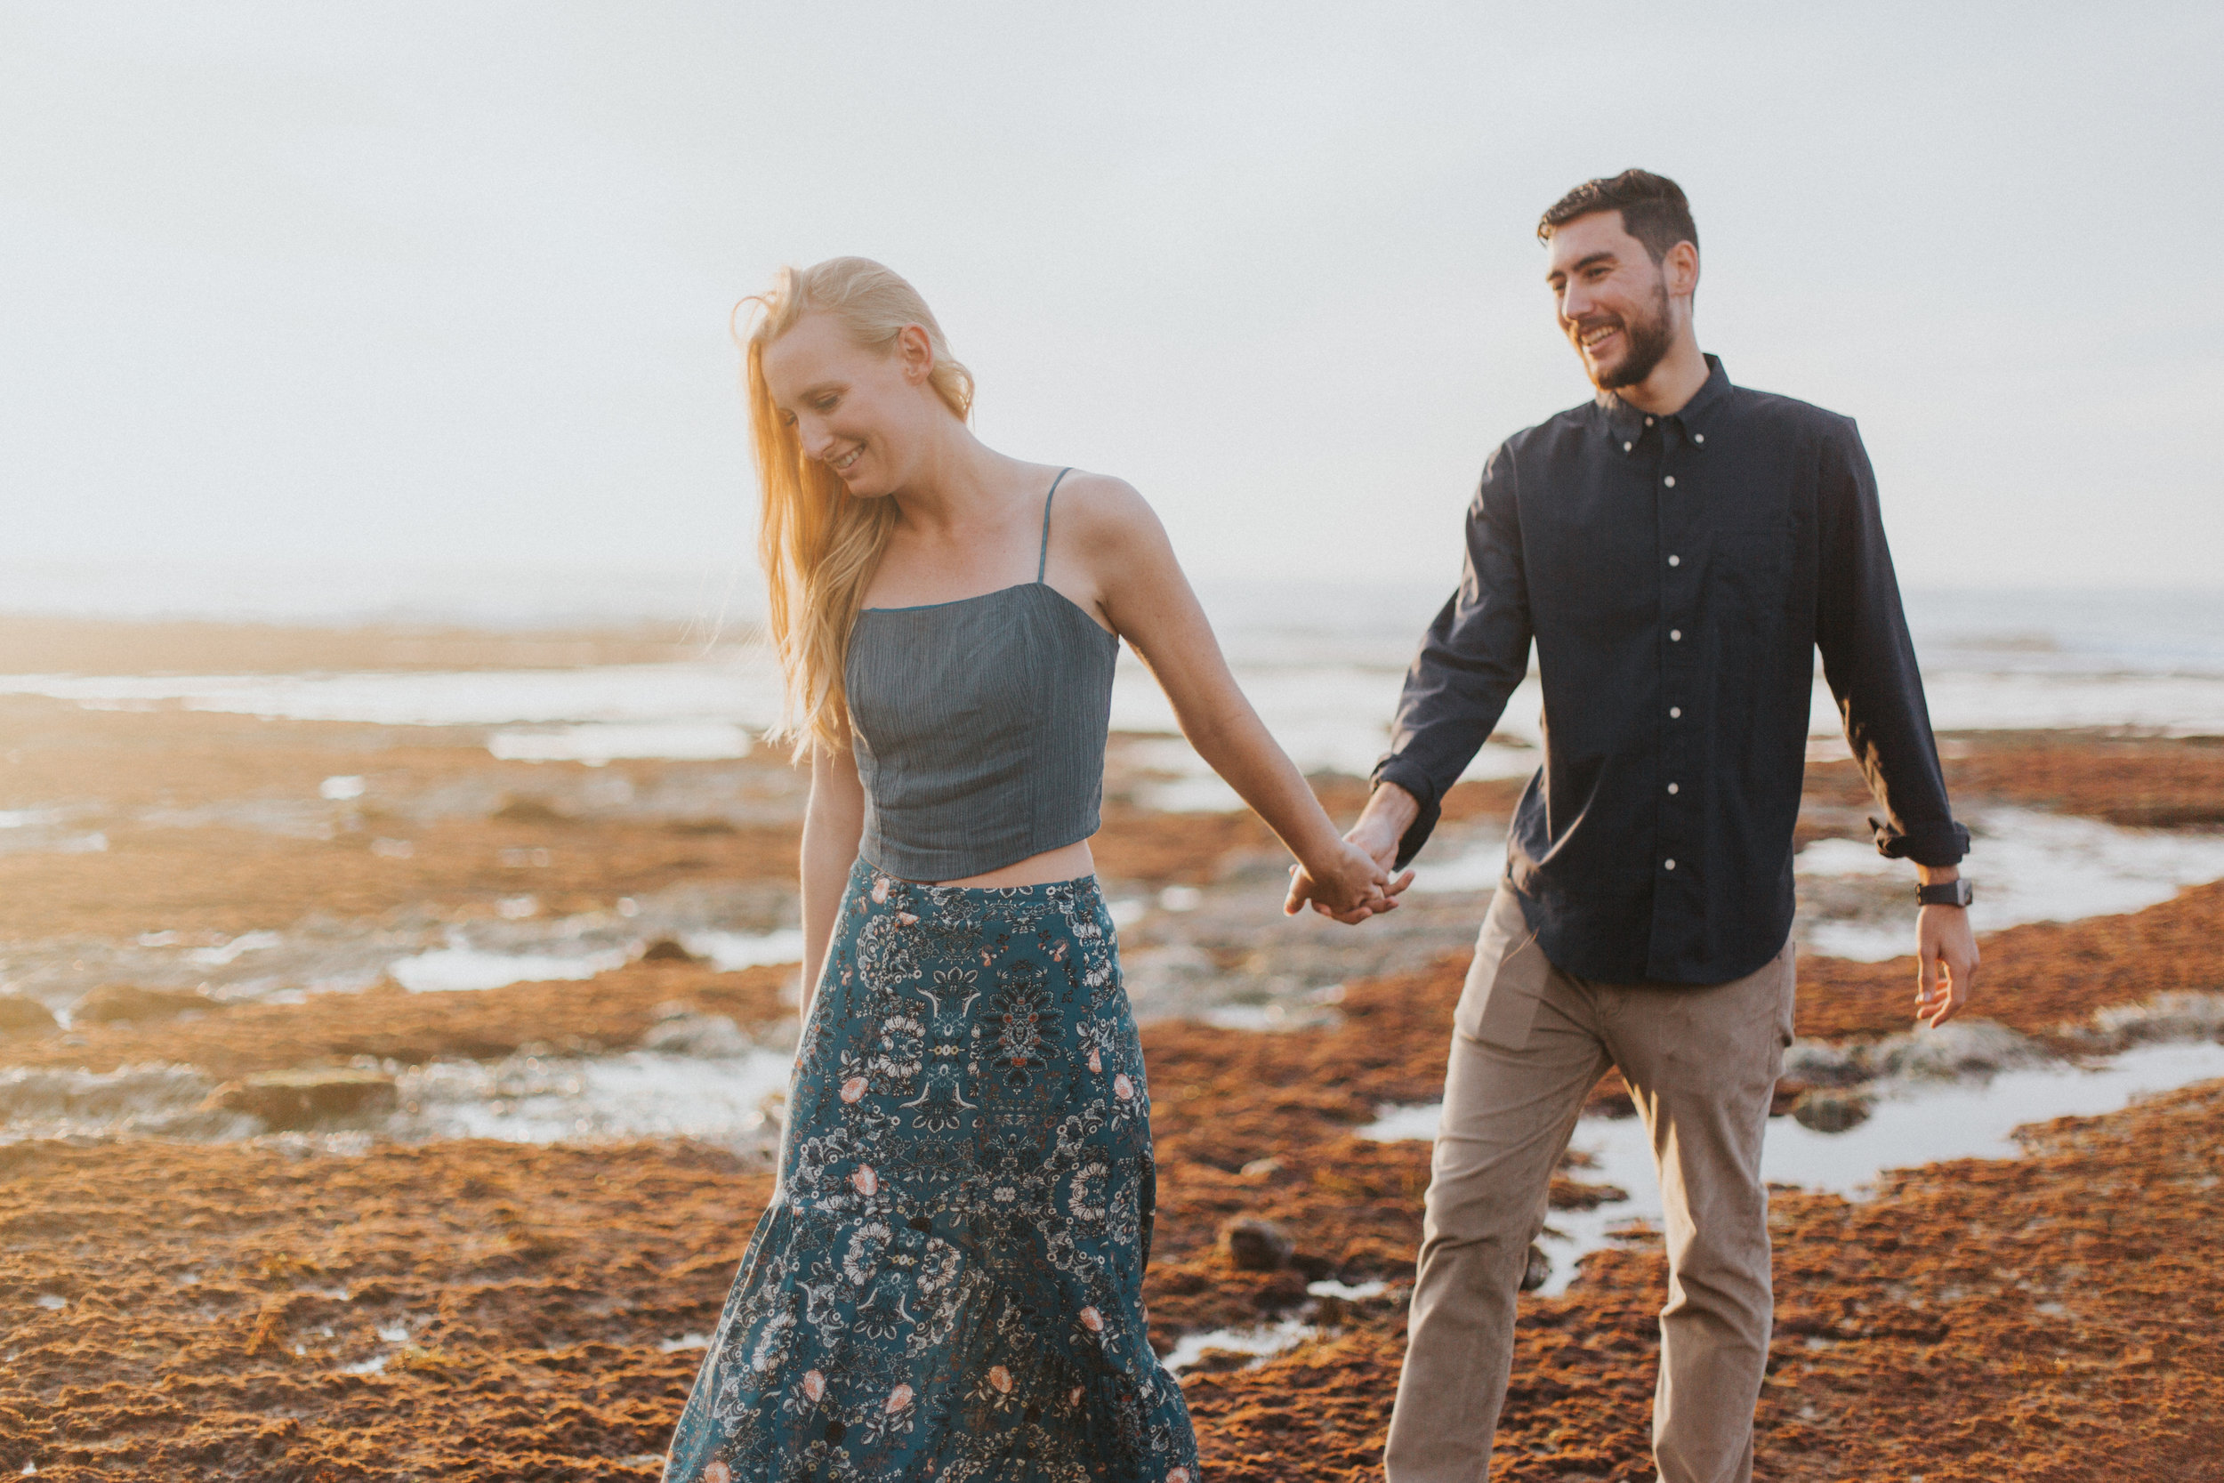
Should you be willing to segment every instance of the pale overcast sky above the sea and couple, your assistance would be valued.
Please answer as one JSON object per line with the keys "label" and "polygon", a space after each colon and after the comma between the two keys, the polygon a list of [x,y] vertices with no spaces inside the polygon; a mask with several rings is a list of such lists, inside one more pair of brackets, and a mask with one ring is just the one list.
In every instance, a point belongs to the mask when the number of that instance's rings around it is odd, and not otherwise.
{"label": "pale overcast sky above the sea and couple", "polygon": [[2215,585],[2220,73],[2217,4],[0,0],[0,558],[727,560],[727,309],[867,253],[1199,574],[1441,589],[1588,394],[1537,213],[1646,165],[1910,585]]}

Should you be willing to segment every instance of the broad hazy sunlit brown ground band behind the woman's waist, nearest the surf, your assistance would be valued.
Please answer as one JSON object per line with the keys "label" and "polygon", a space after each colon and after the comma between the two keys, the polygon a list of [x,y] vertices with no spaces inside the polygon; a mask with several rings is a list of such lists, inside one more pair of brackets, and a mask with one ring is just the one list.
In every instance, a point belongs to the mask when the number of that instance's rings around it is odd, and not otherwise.
{"label": "broad hazy sunlit brown ground band behind the woman's waist, nearest the surf", "polygon": [[[674,885],[794,878],[805,783],[781,756],[589,769],[500,763],[483,736],[0,696],[0,809],[60,809],[105,838],[85,854],[0,852],[0,940],[234,936],[425,903],[460,920],[520,892],[569,914]],[[322,803],[334,774],[360,776],[365,796]],[[583,805],[596,787],[643,805]],[[1092,847],[1108,878],[1165,885],[1208,880],[1274,836],[1250,814],[1112,798]]]}

